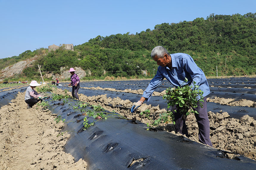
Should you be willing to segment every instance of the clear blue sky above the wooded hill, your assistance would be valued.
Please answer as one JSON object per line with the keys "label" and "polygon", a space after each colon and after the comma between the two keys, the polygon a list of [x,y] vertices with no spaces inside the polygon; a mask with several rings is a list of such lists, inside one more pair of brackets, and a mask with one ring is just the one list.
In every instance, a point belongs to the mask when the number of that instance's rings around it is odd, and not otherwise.
{"label": "clear blue sky above the wooded hill", "polygon": [[161,23],[256,12],[256,0],[0,0],[0,58],[98,35],[136,34]]}

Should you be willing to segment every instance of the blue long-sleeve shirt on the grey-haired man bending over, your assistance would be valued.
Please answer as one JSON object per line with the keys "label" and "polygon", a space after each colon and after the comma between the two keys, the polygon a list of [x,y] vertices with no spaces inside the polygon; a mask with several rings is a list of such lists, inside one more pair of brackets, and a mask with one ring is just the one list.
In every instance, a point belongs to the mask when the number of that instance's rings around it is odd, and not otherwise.
{"label": "blue long-sleeve shirt on the grey-haired man bending over", "polygon": [[[158,67],[155,77],[150,81],[142,95],[142,97],[146,98],[146,101],[149,101],[152,93],[164,78],[175,87],[191,85],[195,81],[195,85],[199,85],[199,89],[204,92],[204,97],[210,94],[210,88],[204,72],[196,65],[190,55],[185,53],[171,54],[171,65],[172,68],[168,66]],[[184,81],[185,77],[188,79],[188,82]]]}

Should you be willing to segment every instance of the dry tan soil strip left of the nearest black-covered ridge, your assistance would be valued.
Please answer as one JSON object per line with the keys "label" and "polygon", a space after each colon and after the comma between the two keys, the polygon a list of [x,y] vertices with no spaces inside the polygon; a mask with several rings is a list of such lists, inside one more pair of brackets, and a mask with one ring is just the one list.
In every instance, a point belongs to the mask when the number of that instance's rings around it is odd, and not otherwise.
{"label": "dry tan soil strip left of the nearest black-covered ridge", "polygon": [[0,169],[86,169],[84,160],[75,163],[63,152],[69,134],[56,137],[63,123],[41,106],[27,109],[24,95],[0,109]]}

